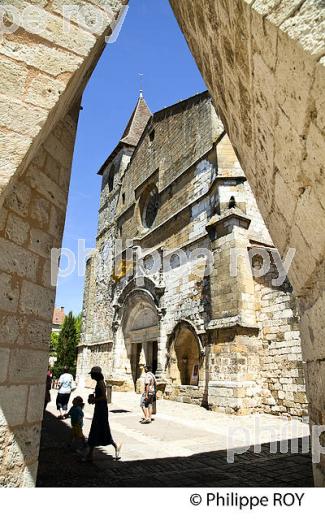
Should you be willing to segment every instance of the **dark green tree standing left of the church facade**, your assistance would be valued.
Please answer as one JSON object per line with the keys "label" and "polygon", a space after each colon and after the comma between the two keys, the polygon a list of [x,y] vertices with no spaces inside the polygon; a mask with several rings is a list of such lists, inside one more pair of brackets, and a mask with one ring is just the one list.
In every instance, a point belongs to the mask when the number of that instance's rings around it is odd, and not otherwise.
{"label": "dark green tree standing left of the church facade", "polygon": [[69,372],[75,375],[78,344],[76,321],[72,312],[69,312],[64,318],[57,345],[57,360],[54,366],[55,373],[62,373],[64,367],[67,367]]}

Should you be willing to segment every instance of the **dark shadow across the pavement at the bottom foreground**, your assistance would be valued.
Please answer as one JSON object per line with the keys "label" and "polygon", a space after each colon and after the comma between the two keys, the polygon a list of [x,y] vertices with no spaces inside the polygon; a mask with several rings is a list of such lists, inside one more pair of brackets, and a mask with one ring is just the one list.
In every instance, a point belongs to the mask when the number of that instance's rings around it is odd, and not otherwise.
{"label": "dark shadow across the pavement at the bottom foreground", "polygon": [[310,453],[271,454],[252,449],[227,463],[227,452],[190,457],[168,457],[123,462],[94,452],[93,463],[83,463],[67,447],[68,424],[45,412],[39,458],[38,487],[313,487]]}

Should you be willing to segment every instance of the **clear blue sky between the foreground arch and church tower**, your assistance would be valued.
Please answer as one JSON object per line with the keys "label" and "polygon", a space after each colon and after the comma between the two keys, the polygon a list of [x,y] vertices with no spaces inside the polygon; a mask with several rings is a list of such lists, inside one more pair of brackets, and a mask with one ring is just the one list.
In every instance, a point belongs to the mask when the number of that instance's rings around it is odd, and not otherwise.
{"label": "clear blue sky between the foreground arch and church tower", "polygon": [[[118,143],[136,104],[139,73],[152,112],[205,90],[168,0],[130,0],[115,43],[108,44],[84,92],[63,247],[78,238],[95,247],[101,178],[99,167]],[[56,305],[80,312],[83,276],[59,278]]]}

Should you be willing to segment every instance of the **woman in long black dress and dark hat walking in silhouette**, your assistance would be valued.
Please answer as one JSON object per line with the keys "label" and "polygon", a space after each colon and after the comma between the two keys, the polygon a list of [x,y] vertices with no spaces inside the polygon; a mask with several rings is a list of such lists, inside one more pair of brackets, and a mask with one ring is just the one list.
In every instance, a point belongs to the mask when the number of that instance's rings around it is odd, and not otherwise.
{"label": "woman in long black dress and dark hat walking in silhouette", "polygon": [[88,398],[89,404],[95,405],[94,416],[90,427],[88,446],[89,452],[86,460],[92,460],[95,446],[108,446],[112,444],[115,448],[115,459],[119,460],[121,446],[114,442],[108,422],[108,407],[106,397],[106,385],[100,367],[93,367],[89,372],[90,377],[97,381],[95,394]]}

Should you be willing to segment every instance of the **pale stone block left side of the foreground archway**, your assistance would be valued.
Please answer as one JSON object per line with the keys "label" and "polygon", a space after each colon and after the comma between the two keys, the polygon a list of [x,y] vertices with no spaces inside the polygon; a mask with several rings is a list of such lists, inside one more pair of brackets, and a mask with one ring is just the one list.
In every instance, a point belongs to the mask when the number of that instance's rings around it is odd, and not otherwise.
{"label": "pale stone block left side of the foreground archway", "polygon": [[[61,244],[79,100],[126,2],[108,0],[109,16],[101,1],[78,2],[83,24],[64,19],[63,0],[7,4],[17,27],[0,43],[0,486],[33,486],[55,299],[50,251]],[[100,31],[96,13],[106,13]]]}

